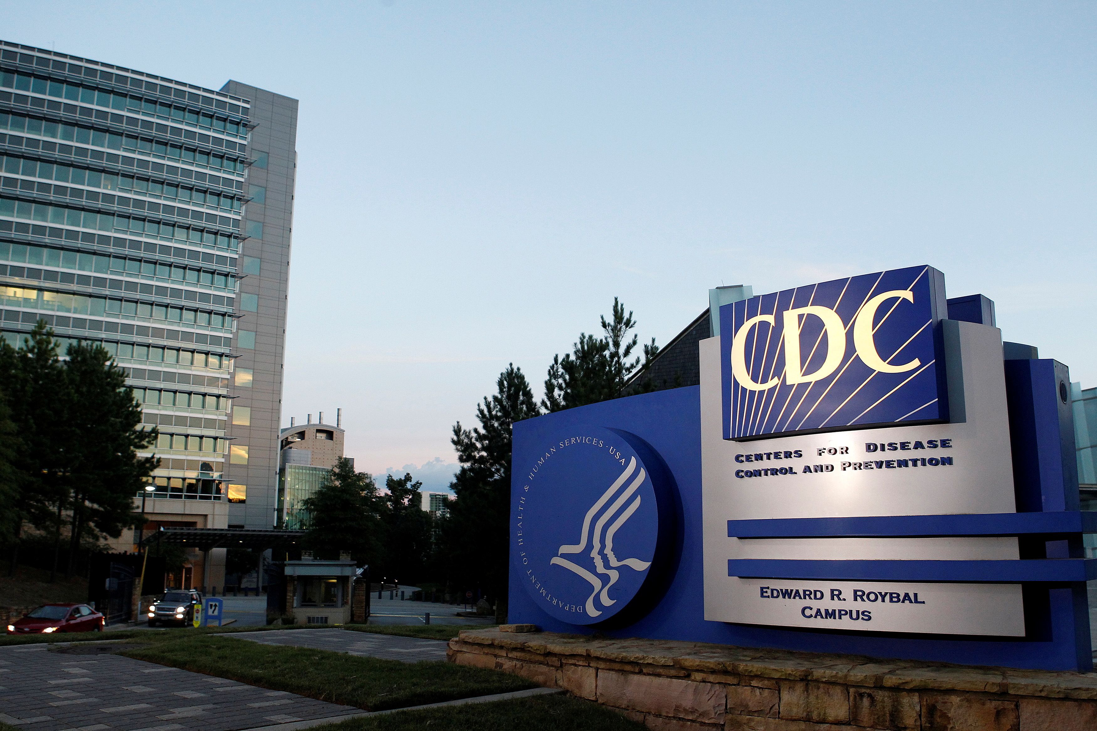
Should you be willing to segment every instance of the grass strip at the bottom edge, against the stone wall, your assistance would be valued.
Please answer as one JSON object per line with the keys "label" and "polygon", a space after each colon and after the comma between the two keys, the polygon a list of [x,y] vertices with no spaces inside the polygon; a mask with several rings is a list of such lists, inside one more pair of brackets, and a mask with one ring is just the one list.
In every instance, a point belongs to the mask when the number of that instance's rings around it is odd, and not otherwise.
{"label": "grass strip at the bottom edge, against the stone wall", "polygon": [[315,731],[420,731],[425,728],[431,731],[498,731],[499,729],[642,731],[646,729],[643,724],[630,721],[598,704],[561,695],[398,711],[318,726]]}

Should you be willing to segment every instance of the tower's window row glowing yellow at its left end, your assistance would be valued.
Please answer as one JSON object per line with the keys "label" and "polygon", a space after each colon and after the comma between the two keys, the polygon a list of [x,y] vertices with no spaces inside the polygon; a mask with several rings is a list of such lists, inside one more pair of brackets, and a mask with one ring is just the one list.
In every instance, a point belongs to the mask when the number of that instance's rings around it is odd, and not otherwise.
{"label": "tower's window row glowing yellow at its left end", "polygon": [[92,317],[121,315],[126,316],[124,319],[167,320],[168,322],[179,322],[183,325],[196,324],[224,331],[233,329],[233,318],[223,312],[139,302],[132,299],[115,299],[113,297],[71,295],[64,292],[49,292],[48,289],[38,289],[35,287],[0,285],[0,305],[19,307],[24,310],[68,312],[71,315],[90,315]]}

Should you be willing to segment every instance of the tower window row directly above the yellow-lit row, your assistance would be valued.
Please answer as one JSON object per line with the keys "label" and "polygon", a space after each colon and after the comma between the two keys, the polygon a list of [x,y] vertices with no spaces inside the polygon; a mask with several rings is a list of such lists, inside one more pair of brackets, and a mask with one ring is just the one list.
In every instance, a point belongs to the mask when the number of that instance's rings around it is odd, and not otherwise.
{"label": "tower window row directly above the yellow-lit row", "polygon": [[[245,260],[250,259],[246,256]],[[18,262],[20,264],[36,264],[55,266],[57,269],[75,270],[77,272],[94,272],[97,274],[115,274],[118,276],[137,275],[170,279],[179,283],[196,284],[199,286],[219,287],[235,290],[236,276],[222,272],[150,262],[144,259],[128,256],[105,256],[103,254],[86,254],[76,251],[64,251],[48,247],[32,247],[23,243],[0,241],[0,261]],[[245,262],[247,266],[247,262]]]}

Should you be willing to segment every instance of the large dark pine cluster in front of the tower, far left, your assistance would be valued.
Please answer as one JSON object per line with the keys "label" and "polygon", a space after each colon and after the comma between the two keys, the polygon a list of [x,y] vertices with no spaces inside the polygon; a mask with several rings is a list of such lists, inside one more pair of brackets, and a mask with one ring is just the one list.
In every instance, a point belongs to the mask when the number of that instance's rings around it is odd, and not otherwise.
{"label": "large dark pine cluster in front of the tower, far left", "polygon": [[139,429],[140,407],[106,351],[72,345],[63,361],[42,320],[18,350],[0,344],[0,382],[18,436],[5,444],[14,475],[0,496],[12,534],[9,570],[14,575],[29,525],[54,538],[52,581],[66,525],[70,573],[82,538],[116,538],[138,519],[134,495],[157,460],[137,452],[151,446],[156,430]]}

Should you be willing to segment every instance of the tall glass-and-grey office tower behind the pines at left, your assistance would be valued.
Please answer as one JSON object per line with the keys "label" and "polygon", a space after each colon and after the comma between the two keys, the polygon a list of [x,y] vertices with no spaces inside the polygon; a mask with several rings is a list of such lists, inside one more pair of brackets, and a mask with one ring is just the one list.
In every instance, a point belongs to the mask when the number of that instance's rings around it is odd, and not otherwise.
{"label": "tall glass-and-grey office tower behind the pines at left", "polygon": [[160,431],[146,535],[274,524],[295,134],[284,96],[0,42],[0,332],[125,368]]}

